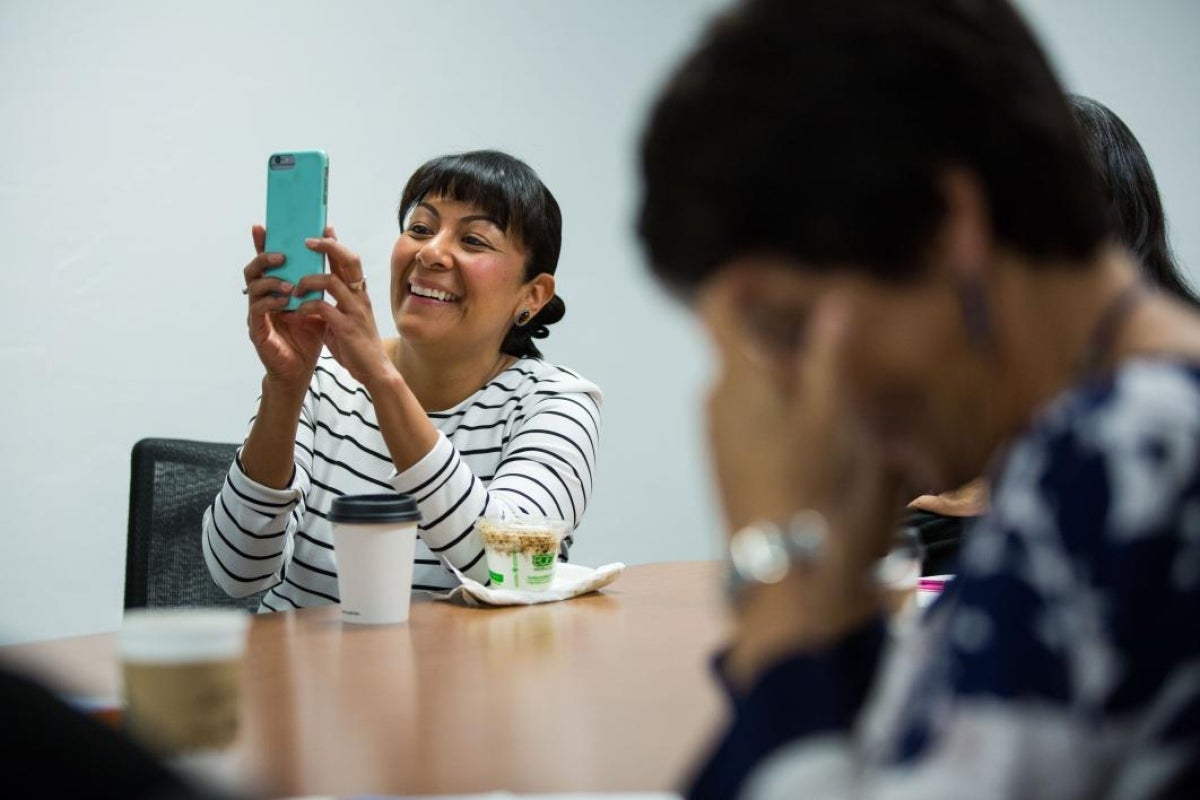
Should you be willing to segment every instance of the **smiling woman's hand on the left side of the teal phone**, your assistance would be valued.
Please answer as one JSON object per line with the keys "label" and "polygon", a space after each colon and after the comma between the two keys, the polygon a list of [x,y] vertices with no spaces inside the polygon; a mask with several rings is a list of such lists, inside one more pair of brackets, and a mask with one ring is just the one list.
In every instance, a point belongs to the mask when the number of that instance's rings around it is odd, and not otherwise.
{"label": "smiling woman's hand on the left side of the teal phone", "polygon": [[[325,235],[330,235],[328,230]],[[257,255],[242,270],[250,306],[246,317],[250,341],[269,381],[306,387],[320,355],[325,323],[319,317],[282,311],[294,287],[264,272],[283,264],[283,255],[264,252],[266,229],[263,225],[251,228],[251,236]]]}

